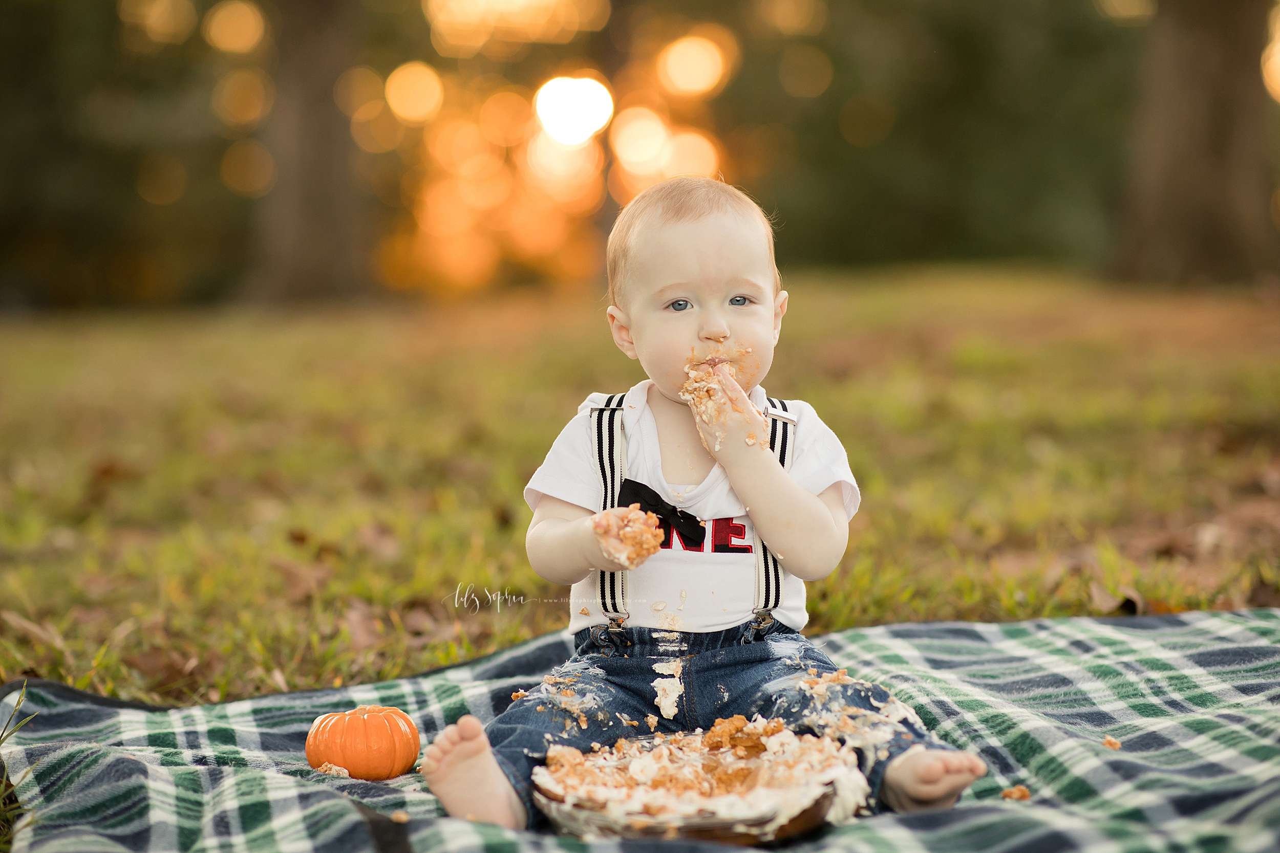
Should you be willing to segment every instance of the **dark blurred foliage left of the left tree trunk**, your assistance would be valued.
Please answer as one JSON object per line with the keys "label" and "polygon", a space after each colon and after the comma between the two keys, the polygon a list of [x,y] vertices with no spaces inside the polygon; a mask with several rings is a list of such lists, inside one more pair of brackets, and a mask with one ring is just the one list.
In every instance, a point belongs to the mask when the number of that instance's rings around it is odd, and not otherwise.
{"label": "dark blurred foliage left of the left tree trunk", "polygon": [[243,270],[207,46],[193,14],[156,23],[160,41],[114,0],[0,3],[0,306],[204,301]]}

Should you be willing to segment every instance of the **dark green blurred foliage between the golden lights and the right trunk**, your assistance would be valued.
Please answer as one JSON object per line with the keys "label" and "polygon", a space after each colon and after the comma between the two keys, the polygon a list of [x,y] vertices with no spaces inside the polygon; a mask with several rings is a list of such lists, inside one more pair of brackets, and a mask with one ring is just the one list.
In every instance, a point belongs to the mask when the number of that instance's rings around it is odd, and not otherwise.
{"label": "dark green blurred foliage between the golden lights and the right trunk", "polygon": [[[1091,0],[858,0],[817,32],[759,23],[786,5],[723,4],[753,37],[713,105],[735,179],[778,214],[780,262],[1106,262],[1142,28]],[[797,47],[829,58],[824,88],[788,91]]]}

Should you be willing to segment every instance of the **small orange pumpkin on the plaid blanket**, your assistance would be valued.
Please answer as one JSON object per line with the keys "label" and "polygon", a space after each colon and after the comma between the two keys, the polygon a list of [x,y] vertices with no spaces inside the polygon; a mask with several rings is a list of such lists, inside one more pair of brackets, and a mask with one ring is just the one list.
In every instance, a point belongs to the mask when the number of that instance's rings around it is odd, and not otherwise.
{"label": "small orange pumpkin on the plaid blanket", "polygon": [[355,711],[321,714],[307,733],[307,763],[343,767],[352,779],[399,776],[417,761],[422,740],[399,708],[361,705]]}

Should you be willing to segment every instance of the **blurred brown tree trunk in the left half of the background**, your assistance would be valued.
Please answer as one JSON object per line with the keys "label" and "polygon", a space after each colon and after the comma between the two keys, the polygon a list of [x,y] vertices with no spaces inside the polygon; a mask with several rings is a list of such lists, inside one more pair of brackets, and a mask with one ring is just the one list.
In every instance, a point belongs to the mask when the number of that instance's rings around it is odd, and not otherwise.
{"label": "blurred brown tree trunk in the left half of the background", "polygon": [[276,180],[255,221],[257,267],[246,295],[344,297],[369,285],[351,159],[355,146],[334,84],[360,32],[351,0],[275,0],[276,100],[266,143]]}

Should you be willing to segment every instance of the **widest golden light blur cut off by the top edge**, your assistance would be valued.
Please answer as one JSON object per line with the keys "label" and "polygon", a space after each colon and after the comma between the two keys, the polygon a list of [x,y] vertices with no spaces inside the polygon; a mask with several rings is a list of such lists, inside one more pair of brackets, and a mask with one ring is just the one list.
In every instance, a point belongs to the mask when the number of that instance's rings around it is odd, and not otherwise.
{"label": "widest golden light blur cut off by the top edge", "polygon": [[[488,42],[564,43],[609,19],[609,0],[422,0],[442,56],[474,56]],[[499,51],[500,52],[500,51]]]}

